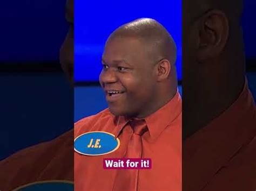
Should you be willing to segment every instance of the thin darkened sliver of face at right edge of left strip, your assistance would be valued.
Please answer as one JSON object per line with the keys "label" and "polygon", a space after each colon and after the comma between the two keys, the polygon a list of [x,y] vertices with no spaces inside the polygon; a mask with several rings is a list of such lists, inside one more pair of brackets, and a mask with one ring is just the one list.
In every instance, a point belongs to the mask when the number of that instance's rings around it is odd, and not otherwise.
{"label": "thin darkened sliver of face at right edge of left strip", "polygon": [[59,59],[65,74],[73,84],[74,48],[73,48],[73,0],[66,2],[66,20],[69,23],[69,31],[60,48]]}

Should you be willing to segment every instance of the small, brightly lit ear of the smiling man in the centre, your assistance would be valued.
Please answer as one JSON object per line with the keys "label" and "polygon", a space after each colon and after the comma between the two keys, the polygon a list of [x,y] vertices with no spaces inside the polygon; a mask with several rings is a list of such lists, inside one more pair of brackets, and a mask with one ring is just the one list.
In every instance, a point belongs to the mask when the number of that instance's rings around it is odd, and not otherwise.
{"label": "small, brightly lit ear of the smiling man in the centre", "polygon": [[156,69],[157,69],[157,81],[163,81],[166,80],[171,72],[171,63],[169,60],[163,59],[160,60],[157,65],[156,65]]}

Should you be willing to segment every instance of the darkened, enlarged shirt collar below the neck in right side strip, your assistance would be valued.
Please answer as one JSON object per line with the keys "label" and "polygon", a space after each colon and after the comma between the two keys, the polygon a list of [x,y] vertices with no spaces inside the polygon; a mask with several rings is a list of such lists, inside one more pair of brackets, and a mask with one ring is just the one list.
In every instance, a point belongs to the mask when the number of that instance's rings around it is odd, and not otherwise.
{"label": "darkened, enlarged shirt collar below the neck in right side strip", "polygon": [[245,81],[238,99],[223,114],[185,140],[184,182],[190,190],[201,190],[241,146],[255,136],[255,111],[253,97]]}

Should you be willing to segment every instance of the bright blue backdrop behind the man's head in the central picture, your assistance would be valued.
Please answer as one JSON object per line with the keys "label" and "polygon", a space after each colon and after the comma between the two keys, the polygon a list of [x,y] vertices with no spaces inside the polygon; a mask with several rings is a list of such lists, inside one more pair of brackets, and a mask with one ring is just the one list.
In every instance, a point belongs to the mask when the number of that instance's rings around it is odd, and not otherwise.
{"label": "bright blue backdrop behind the man's head in the central picture", "polygon": [[120,25],[143,17],[158,20],[176,41],[181,79],[181,0],[75,1],[75,10],[76,81],[98,81],[107,37]]}

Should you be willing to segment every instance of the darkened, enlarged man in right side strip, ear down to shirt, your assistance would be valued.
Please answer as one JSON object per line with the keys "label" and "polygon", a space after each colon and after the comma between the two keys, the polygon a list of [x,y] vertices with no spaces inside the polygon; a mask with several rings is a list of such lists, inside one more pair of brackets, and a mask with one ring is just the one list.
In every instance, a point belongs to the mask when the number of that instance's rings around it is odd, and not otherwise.
{"label": "darkened, enlarged man in right side strip, ear down to shirt", "polygon": [[183,189],[255,190],[256,114],[242,1],[185,1]]}

